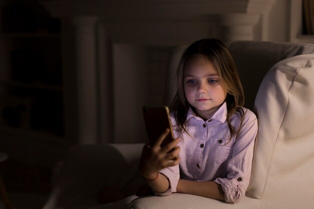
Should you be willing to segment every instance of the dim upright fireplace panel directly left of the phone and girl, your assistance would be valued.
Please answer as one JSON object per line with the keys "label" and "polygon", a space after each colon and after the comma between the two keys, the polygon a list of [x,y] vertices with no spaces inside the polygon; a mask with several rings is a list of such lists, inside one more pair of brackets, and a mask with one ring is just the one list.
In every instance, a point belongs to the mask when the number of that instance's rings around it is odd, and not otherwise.
{"label": "dim upright fireplace panel directly left of the phone and girl", "polygon": [[147,103],[146,50],[113,45],[114,142],[144,142],[141,107]]}

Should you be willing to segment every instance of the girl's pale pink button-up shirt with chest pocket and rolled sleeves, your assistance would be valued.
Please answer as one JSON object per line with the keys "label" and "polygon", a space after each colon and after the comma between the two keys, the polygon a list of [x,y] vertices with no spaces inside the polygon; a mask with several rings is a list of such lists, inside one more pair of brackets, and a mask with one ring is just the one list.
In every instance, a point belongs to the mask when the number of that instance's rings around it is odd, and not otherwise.
{"label": "girl's pale pink button-up shirt with chest pocket and rolled sleeves", "polygon": [[[250,180],[257,119],[252,111],[243,109],[242,128],[237,136],[230,139],[226,103],[207,121],[190,108],[186,122],[189,134],[181,134],[174,128],[175,138],[183,139],[178,144],[181,148],[180,163],[160,171],[169,179],[170,188],[165,193],[156,194],[176,192],[181,178],[221,184],[225,201],[229,203],[237,202],[244,196]],[[176,125],[173,117],[172,123]],[[231,124],[237,130],[240,125],[239,113],[231,117]]]}

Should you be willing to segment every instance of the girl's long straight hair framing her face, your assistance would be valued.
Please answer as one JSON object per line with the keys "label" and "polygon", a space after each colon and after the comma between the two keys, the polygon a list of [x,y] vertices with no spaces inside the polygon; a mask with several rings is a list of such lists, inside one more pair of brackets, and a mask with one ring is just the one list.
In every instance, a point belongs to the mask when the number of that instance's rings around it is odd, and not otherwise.
{"label": "girl's long straight hair framing her face", "polygon": [[[175,127],[180,133],[187,132],[185,122],[187,120],[190,104],[186,99],[183,83],[183,70],[186,61],[193,56],[205,56],[212,62],[222,80],[222,86],[227,91],[225,102],[227,104],[227,123],[231,137],[238,134],[244,120],[244,93],[238,71],[229,49],[217,39],[202,39],[194,42],[183,53],[177,72],[177,93],[170,106],[170,111],[174,114],[177,122]],[[231,116],[239,113],[240,126],[238,130],[231,124]],[[231,139],[230,137],[230,139]]]}

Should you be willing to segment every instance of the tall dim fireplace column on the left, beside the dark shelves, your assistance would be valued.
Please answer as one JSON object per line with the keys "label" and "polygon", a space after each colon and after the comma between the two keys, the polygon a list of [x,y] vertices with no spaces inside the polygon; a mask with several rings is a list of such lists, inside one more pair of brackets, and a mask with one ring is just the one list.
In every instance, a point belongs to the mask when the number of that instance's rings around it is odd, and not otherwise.
{"label": "tall dim fireplace column on the left, beside the dark shelves", "polygon": [[96,17],[75,17],[78,143],[98,142],[96,64]]}

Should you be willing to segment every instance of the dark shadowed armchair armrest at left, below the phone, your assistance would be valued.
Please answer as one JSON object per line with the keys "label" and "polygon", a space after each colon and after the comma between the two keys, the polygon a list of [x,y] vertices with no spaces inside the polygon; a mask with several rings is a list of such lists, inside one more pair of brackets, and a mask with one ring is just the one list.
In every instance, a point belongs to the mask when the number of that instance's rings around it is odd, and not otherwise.
{"label": "dark shadowed armchair armrest at left, below the phone", "polygon": [[76,145],[68,151],[44,209],[97,206],[103,186],[124,189],[138,181],[143,144]]}

